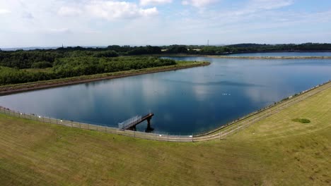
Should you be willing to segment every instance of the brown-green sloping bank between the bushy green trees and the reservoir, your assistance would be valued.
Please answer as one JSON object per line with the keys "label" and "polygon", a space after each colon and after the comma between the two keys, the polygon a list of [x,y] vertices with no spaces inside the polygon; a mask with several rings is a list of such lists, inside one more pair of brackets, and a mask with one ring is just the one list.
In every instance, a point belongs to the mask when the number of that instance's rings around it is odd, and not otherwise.
{"label": "brown-green sloping bank between the bushy green trees and the reservoir", "polygon": [[134,75],[144,75],[149,73],[161,73],[166,71],[172,70],[181,70],[185,68],[194,68],[199,66],[209,66],[209,62],[196,62],[187,64],[176,64],[174,66],[161,66],[155,68],[144,68],[139,70],[128,70],[128,71],[120,71],[115,73],[103,73],[103,74],[96,74],[96,75],[86,75],[86,76],[79,76],[79,77],[69,77],[66,79],[57,79],[57,80],[47,80],[42,82],[28,82],[25,84],[19,85],[5,85],[0,87],[0,96],[5,96],[8,94],[17,94],[20,92],[28,92],[37,89],[49,89],[54,87],[64,87],[68,85],[77,85],[86,82],[95,82],[100,80],[111,80],[117,79],[121,77],[130,77]]}

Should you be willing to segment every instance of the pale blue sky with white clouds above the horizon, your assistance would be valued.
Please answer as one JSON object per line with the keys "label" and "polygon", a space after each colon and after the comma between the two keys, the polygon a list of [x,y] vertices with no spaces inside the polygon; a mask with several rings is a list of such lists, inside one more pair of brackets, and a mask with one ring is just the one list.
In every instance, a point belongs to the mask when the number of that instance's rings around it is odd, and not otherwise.
{"label": "pale blue sky with white clouds above the horizon", "polygon": [[331,43],[330,0],[0,0],[0,48]]}

